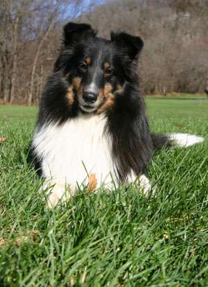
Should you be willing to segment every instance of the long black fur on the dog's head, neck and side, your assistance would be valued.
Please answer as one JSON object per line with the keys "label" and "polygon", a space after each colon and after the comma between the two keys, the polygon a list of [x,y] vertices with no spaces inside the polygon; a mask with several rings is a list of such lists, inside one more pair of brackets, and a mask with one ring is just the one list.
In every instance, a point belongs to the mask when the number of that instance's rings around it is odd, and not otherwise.
{"label": "long black fur on the dog's head, neck and side", "polygon": [[[143,42],[139,37],[123,32],[111,33],[109,41],[96,37],[96,31],[88,24],[67,24],[64,27],[60,55],[40,103],[37,126],[41,127],[51,121],[61,125],[80,112],[76,90],[73,89],[74,101],[71,106],[67,103],[66,94],[73,78],[81,78],[84,87],[92,77],[95,77],[100,89],[106,84],[112,85],[114,105],[104,113],[107,117],[107,131],[112,136],[112,157],[116,162],[116,173],[121,184],[130,169],[137,175],[146,172],[154,149],[161,150],[165,145],[171,146],[171,141],[165,135],[152,134],[149,130],[137,77],[137,60],[142,46]],[[86,57],[92,60],[92,67],[87,73],[81,73],[78,67]],[[97,69],[100,62],[110,63],[113,70],[111,76],[103,76],[103,71]],[[122,92],[118,91],[118,84]],[[41,160],[35,155],[34,158],[36,166],[40,167]]]}

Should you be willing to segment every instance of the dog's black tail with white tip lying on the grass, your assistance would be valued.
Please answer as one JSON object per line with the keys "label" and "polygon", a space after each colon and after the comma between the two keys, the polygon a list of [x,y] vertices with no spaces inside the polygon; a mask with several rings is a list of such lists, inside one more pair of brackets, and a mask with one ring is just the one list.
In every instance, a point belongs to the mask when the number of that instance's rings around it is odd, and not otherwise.
{"label": "dog's black tail with white tip lying on the grass", "polygon": [[151,134],[153,141],[153,147],[155,150],[162,150],[163,147],[170,148],[171,146],[177,146],[179,148],[187,148],[193,146],[193,144],[200,143],[205,139],[192,134]]}

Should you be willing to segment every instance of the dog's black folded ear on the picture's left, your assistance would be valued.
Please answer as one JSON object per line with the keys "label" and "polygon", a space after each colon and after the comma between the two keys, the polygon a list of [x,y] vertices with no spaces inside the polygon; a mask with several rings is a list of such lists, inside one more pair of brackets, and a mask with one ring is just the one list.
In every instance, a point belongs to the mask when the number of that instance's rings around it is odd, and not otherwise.
{"label": "dog's black folded ear on the picture's left", "polygon": [[64,26],[64,46],[75,46],[86,35],[94,37],[97,31],[89,24],[76,24],[69,22]]}

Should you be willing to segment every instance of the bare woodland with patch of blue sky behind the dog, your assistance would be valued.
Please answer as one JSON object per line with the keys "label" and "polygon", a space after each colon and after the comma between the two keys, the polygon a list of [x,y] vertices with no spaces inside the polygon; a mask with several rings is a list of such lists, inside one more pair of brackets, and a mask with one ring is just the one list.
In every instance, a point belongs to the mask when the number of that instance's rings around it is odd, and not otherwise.
{"label": "bare woodland with patch of blue sky behind the dog", "polygon": [[145,94],[208,89],[207,0],[0,0],[0,103],[39,104],[67,21],[139,35]]}

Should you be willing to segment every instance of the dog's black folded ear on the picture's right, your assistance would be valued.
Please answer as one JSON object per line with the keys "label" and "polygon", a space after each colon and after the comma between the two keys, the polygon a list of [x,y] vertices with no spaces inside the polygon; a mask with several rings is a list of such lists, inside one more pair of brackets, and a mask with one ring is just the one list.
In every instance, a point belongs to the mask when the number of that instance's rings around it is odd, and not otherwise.
{"label": "dog's black folded ear on the picture's right", "polygon": [[135,60],[143,47],[143,41],[140,37],[135,37],[124,32],[110,33],[112,42],[116,42],[124,53],[127,53],[131,60]]}

